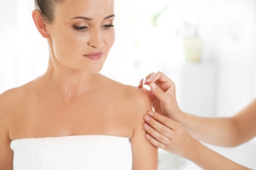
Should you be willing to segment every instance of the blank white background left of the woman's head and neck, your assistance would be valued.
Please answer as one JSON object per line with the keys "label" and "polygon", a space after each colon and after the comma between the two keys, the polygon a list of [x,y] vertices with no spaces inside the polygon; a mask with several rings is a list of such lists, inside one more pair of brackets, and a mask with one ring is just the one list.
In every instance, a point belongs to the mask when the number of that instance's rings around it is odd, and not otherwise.
{"label": "blank white background left of the woman's head and neck", "polygon": [[41,75],[47,42],[32,20],[32,0],[0,1],[0,93]]}

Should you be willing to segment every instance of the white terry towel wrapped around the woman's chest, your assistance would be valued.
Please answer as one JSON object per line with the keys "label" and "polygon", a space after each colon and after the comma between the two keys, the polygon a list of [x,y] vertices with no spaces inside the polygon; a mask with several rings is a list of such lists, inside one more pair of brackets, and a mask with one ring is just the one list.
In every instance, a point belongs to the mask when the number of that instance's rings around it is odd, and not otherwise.
{"label": "white terry towel wrapped around the woman's chest", "polygon": [[131,170],[129,138],[75,135],[16,139],[14,170]]}

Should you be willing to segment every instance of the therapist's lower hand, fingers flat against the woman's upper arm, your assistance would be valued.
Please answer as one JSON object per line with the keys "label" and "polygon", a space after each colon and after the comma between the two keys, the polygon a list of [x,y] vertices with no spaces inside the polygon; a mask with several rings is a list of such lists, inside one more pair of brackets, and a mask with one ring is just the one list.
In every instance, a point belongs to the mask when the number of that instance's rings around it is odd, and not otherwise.
{"label": "therapist's lower hand, fingers flat against the woman's upper arm", "polygon": [[193,150],[201,144],[191,137],[181,124],[158,112],[148,111],[144,121],[146,123],[143,129],[146,131],[146,139],[167,152],[190,158],[192,157],[190,154],[194,154]]}

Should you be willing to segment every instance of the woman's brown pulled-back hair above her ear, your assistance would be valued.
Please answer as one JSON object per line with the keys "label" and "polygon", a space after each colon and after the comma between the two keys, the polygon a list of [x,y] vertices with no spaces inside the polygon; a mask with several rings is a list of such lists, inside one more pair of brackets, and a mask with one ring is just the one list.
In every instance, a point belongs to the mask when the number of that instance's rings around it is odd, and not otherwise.
{"label": "woman's brown pulled-back hair above her ear", "polygon": [[64,3],[64,0],[35,0],[35,9],[41,12],[47,24],[51,24],[54,20],[54,12],[58,3]]}

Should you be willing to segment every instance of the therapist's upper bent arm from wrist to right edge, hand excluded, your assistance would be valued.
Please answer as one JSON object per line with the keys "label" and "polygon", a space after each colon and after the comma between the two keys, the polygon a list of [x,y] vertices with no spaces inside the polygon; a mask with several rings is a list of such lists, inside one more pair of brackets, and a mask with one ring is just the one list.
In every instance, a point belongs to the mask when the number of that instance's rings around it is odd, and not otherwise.
{"label": "therapist's upper bent arm from wrist to right edge, hand excluded", "polygon": [[203,118],[186,113],[180,115],[176,121],[205,143],[237,146],[256,136],[256,99],[230,118]]}

